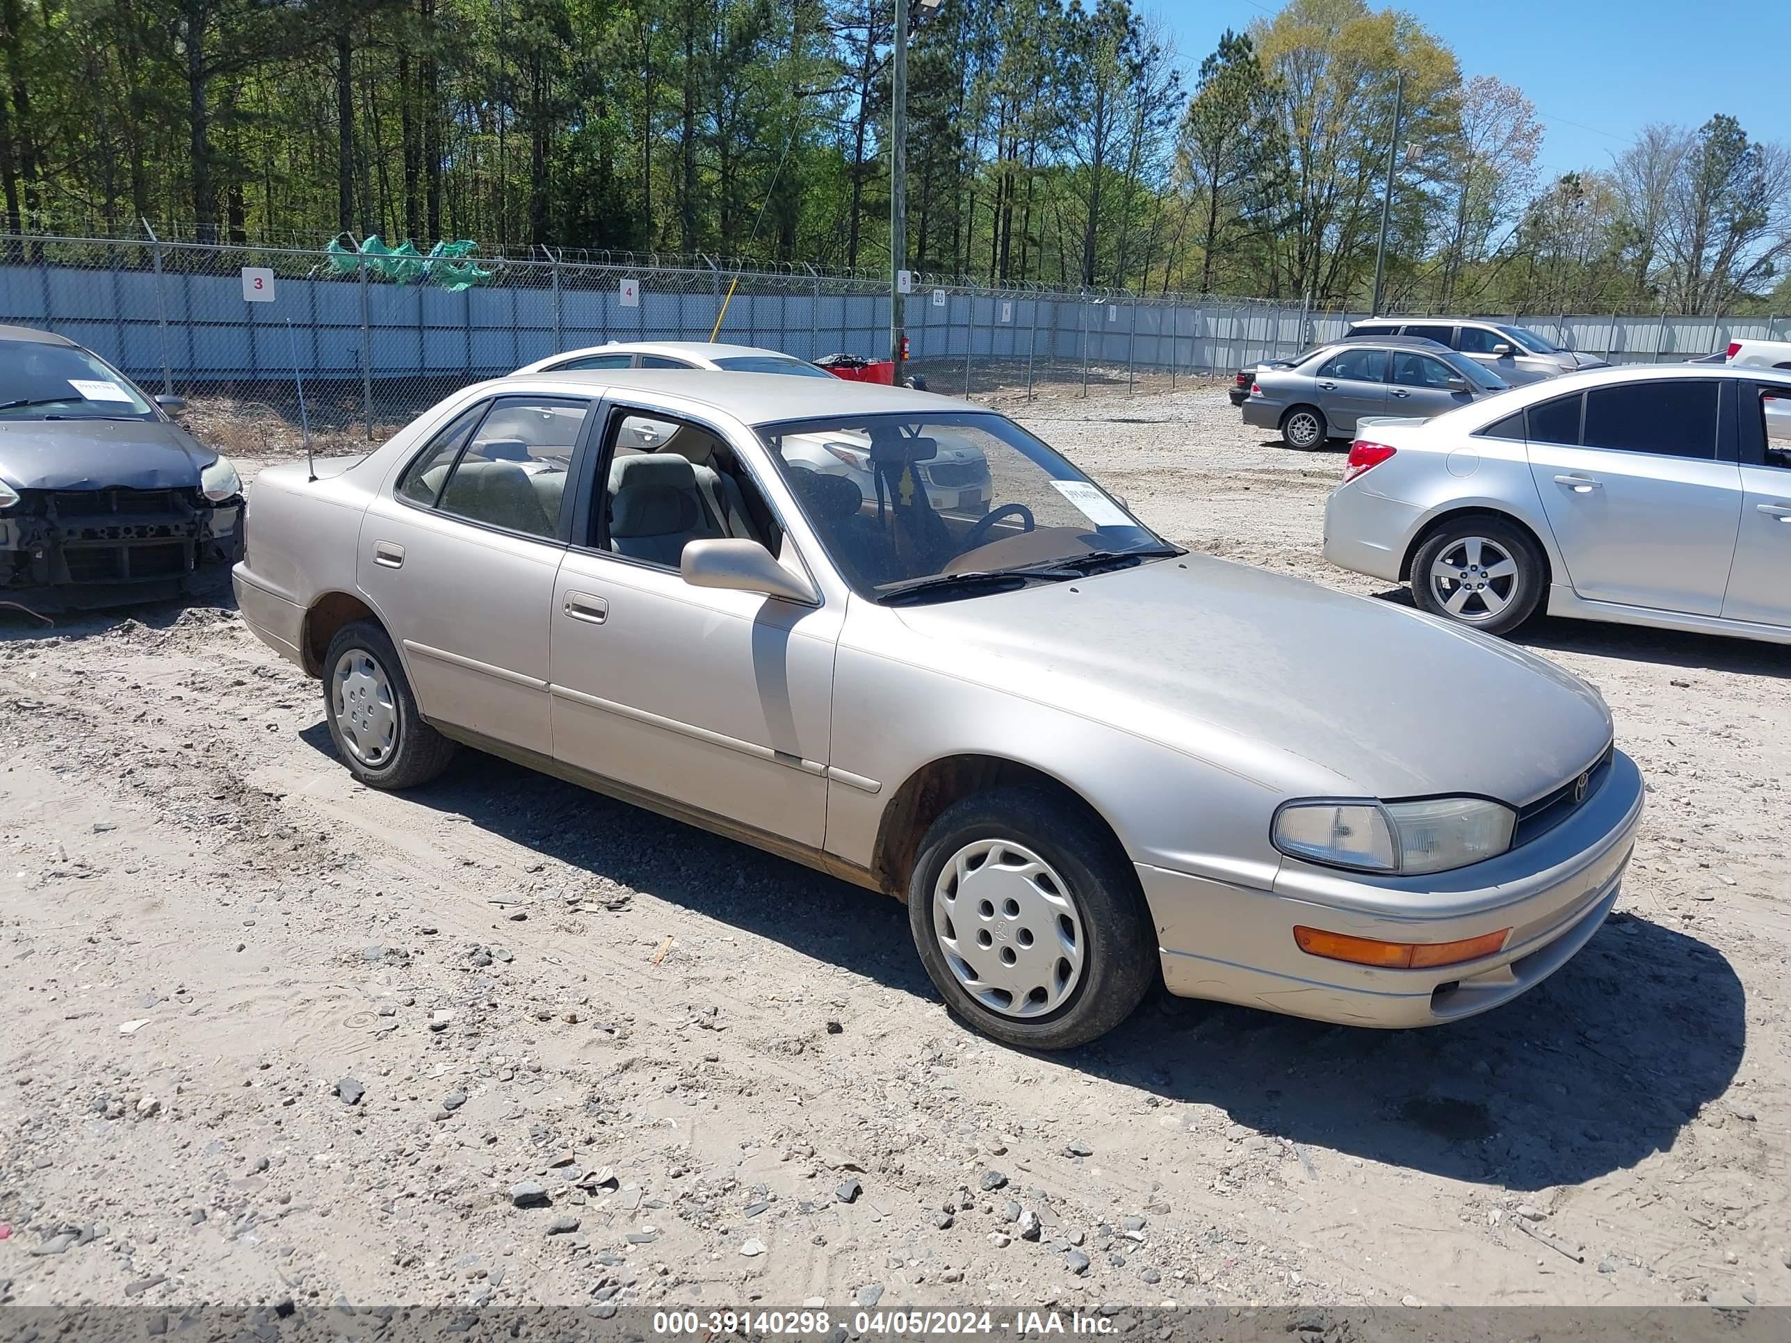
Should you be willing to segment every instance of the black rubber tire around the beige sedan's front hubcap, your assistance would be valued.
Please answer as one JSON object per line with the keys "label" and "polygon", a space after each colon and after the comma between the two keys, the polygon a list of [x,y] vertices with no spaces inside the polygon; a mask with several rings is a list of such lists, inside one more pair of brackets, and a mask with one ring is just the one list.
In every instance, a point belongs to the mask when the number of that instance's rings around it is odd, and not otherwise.
{"label": "black rubber tire around the beige sedan's front hubcap", "polygon": [[[1060,876],[1062,895],[1076,910],[1082,974],[1048,1014],[1021,1019],[985,1006],[958,983],[938,944],[935,883],[946,863],[978,840],[1007,840],[1030,849]],[[908,928],[951,1014],[1021,1049],[1087,1044],[1130,1017],[1157,983],[1155,926],[1132,863],[1100,818],[1039,788],[996,788],[946,808],[928,827],[908,881]]]}

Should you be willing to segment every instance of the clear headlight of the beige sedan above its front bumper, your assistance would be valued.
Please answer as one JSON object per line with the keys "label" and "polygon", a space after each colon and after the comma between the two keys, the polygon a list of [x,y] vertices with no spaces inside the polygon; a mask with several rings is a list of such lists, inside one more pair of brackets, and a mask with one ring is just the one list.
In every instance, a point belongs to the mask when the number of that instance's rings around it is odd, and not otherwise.
{"label": "clear headlight of the beige sedan above its front bumper", "polygon": [[1512,847],[1515,825],[1512,808],[1483,797],[1365,797],[1288,802],[1275,813],[1272,838],[1290,858],[1417,876],[1497,858]]}

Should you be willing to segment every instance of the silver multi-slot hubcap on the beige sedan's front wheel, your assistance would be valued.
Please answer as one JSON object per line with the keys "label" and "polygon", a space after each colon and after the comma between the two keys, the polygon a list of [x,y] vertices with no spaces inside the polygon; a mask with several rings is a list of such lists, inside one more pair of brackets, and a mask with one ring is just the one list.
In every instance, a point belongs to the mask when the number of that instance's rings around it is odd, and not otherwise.
{"label": "silver multi-slot hubcap on the beige sedan's front wheel", "polygon": [[933,937],[964,990],[1003,1017],[1039,1017],[1082,981],[1087,942],[1069,886],[1030,849],[976,840],[933,886]]}

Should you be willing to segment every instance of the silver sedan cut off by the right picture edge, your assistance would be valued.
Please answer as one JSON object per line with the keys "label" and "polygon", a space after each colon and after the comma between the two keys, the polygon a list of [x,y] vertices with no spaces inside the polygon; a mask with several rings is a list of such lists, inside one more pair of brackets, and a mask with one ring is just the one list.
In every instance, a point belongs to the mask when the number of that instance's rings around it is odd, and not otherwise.
{"label": "silver sedan cut off by the right picture edge", "polygon": [[1325,559],[1503,634],[1537,611],[1791,643],[1791,371],[1567,374],[1363,423]]}

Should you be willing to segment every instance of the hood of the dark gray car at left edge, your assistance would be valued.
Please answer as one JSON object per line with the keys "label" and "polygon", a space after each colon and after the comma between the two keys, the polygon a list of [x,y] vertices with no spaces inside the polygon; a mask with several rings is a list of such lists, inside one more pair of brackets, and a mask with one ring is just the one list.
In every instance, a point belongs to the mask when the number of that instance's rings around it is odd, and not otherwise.
{"label": "hood of the dark gray car at left edge", "polygon": [[215,457],[156,419],[0,421],[0,480],[14,489],[193,489]]}

